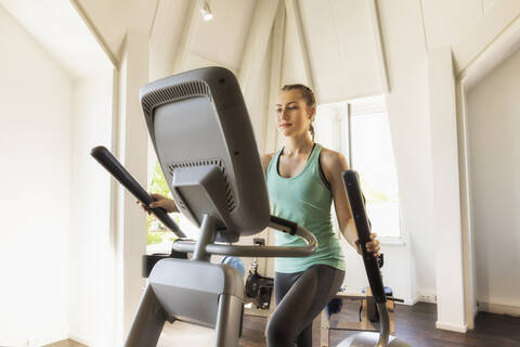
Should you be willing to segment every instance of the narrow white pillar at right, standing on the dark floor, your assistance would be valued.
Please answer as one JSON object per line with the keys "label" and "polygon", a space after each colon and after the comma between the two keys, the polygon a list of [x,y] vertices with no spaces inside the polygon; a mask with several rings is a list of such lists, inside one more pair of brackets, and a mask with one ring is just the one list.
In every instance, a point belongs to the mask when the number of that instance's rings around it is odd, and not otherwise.
{"label": "narrow white pillar at right, standing on the dark floor", "polygon": [[[432,162],[432,230],[437,279],[437,323],[465,332],[463,236],[458,175],[455,77],[450,47],[428,52]],[[469,323],[470,324],[470,323]]]}

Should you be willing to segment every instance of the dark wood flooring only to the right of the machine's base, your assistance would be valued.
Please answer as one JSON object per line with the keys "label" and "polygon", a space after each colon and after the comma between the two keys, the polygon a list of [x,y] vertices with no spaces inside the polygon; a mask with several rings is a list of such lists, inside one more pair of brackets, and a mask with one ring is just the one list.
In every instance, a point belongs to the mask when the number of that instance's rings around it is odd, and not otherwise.
{"label": "dark wood flooring only to the right of the machine's base", "polygon": [[[355,319],[355,303],[343,305],[337,319]],[[414,306],[398,305],[395,307],[395,335],[414,347],[441,346],[486,346],[520,347],[520,318],[479,312],[476,327],[466,334],[435,329],[437,306],[418,303]],[[265,319],[245,316],[242,347],[263,347],[265,338]],[[330,331],[330,347],[337,346],[346,337],[356,332]],[[313,346],[320,346],[320,321],[313,323]]]}

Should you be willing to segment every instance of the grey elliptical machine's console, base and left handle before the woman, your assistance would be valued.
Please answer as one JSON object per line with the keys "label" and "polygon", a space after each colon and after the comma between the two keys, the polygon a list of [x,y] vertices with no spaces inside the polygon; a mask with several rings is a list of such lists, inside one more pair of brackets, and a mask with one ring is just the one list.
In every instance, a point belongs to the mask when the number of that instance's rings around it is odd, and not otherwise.
{"label": "grey elliptical machine's console, base and left handle before the woman", "polygon": [[[244,282],[211,255],[304,257],[314,235],[291,221],[270,216],[265,178],[252,127],[235,76],[221,67],[178,74],[144,86],[141,105],[148,133],[179,210],[200,228],[197,241],[160,208],[152,209],[180,239],[150,272],[126,339],[127,347],[156,346],[166,321],[214,329],[217,347],[238,346]],[[105,147],[92,156],[144,205],[152,197]],[[233,245],[240,236],[273,228],[301,239],[301,246]]]}

